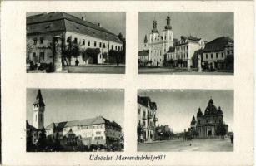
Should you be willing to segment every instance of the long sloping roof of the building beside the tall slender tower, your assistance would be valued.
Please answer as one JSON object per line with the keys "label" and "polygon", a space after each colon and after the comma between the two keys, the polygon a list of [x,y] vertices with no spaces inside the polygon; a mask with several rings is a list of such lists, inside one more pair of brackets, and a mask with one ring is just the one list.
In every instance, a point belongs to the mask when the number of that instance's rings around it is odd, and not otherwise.
{"label": "long sloping roof of the building beside the tall slender tower", "polygon": [[87,126],[87,125],[98,125],[98,124],[107,124],[107,125],[113,125],[117,128],[121,128],[120,125],[118,125],[116,122],[111,122],[102,116],[98,116],[96,118],[91,119],[85,119],[85,120],[73,120],[73,121],[64,121],[59,123],[52,123],[46,127],[46,129],[53,129],[54,125],[57,129],[63,129],[65,127],[72,127],[72,126]]}

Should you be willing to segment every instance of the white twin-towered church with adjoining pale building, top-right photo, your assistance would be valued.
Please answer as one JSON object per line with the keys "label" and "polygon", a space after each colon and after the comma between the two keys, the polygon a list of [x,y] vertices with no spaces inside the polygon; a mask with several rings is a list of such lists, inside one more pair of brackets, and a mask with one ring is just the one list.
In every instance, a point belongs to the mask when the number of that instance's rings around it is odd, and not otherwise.
{"label": "white twin-towered church with adjoining pale building, top-right photo", "polygon": [[182,36],[180,40],[173,38],[173,27],[170,17],[163,31],[158,32],[157,21],[153,21],[153,29],[149,35],[148,50],[151,66],[163,66],[164,61],[173,60],[175,66],[190,68],[194,66],[193,57],[203,49],[204,41],[198,37]]}

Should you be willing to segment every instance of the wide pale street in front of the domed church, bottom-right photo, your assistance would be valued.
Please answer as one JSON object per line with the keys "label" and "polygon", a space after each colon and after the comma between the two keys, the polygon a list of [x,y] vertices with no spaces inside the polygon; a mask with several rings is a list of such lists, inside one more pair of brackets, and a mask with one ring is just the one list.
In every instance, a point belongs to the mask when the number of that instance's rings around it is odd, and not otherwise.
{"label": "wide pale street in front of the domed church, bottom-right photo", "polygon": [[[190,146],[191,144],[191,146]],[[185,152],[204,151],[221,152],[233,151],[233,144],[230,139],[193,139],[193,141],[183,141],[183,139],[158,141],[149,144],[138,144],[138,151],[142,152]]]}

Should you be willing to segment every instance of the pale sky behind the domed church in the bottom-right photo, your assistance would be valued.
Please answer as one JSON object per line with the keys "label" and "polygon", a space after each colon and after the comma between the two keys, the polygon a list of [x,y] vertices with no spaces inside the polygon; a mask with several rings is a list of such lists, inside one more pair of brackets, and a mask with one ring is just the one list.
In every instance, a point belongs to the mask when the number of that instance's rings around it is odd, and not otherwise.
{"label": "pale sky behind the domed church in the bottom-right photo", "polygon": [[174,133],[188,130],[198,108],[204,114],[208,101],[223,110],[223,120],[233,131],[233,90],[138,90],[138,95],[149,96],[157,104],[157,125],[169,125]]}

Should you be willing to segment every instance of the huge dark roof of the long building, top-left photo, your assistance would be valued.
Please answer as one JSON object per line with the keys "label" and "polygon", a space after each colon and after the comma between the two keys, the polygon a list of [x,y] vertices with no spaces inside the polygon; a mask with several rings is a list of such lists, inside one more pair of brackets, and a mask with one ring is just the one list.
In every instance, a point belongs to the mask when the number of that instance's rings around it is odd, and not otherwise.
{"label": "huge dark roof of the long building, top-left photo", "polygon": [[113,32],[66,12],[49,12],[27,17],[27,34],[63,31],[78,32],[91,37],[122,43]]}

